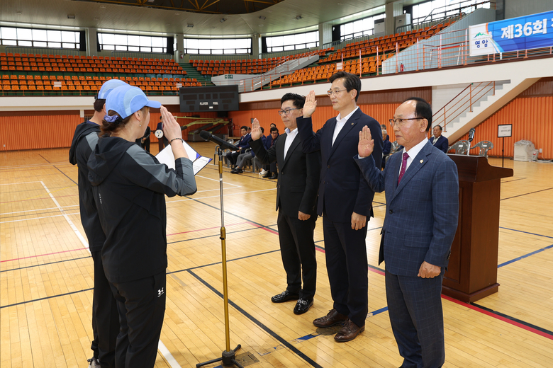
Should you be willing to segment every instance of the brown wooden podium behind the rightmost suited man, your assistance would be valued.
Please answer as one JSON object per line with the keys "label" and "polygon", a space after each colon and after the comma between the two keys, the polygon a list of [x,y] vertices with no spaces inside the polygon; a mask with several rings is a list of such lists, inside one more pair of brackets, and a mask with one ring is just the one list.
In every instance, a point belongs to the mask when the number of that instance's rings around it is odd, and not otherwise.
{"label": "brown wooden podium behind the rightmost suited man", "polygon": [[442,294],[467,303],[498,291],[501,178],[513,169],[490,166],[483,156],[448,154],[459,172],[459,225]]}

